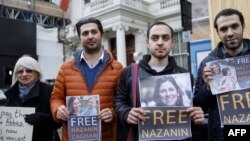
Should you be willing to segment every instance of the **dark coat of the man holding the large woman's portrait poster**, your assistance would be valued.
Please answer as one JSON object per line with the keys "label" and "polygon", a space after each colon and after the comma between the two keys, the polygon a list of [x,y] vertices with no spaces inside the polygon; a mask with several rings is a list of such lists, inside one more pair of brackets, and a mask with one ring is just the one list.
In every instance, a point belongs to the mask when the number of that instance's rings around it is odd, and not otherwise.
{"label": "dark coat of the man holding the large woman's portrait poster", "polygon": [[[143,60],[139,62],[138,66],[138,77],[148,77],[156,75],[167,75],[167,74],[176,74],[176,73],[185,73],[188,72],[186,69],[177,66],[173,57],[169,56],[169,64],[161,72],[156,72],[153,70],[148,61],[150,60],[150,55],[145,55]],[[191,76],[191,81],[193,84],[193,77]],[[139,88],[137,83],[137,105],[140,107],[140,98],[139,98]],[[117,121],[117,141],[126,141],[128,136],[128,131],[131,127],[127,123],[127,118],[129,111],[133,108],[133,95],[132,95],[132,78],[131,78],[131,65],[126,67],[123,71],[123,74],[120,78],[120,83],[118,85],[116,97],[115,97],[115,110],[117,112],[118,121]],[[134,141],[138,140],[138,126],[133,127]]]}

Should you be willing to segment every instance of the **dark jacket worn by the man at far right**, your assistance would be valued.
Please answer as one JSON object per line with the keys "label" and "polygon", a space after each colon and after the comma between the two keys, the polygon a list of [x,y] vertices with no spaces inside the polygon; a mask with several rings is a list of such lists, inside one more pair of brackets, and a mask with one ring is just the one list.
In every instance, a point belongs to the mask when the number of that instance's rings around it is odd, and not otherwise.
{"label": "dark jacket worn by the man at far right", "polygon": [[[244,56],[250,54],[250,40],[243,40],[244,49],[237,56]],[[194,89],[194,105],[200,106],[205,113],[208,113],[208,138],[209,141],[224,141],[224,129],[221,127],[220,115],[218,109],[218,103],[216,96],[212,95],[210,90],[207,90],[205,82],[203,80],[203,69],[207,62],[219,59],[226,59],[230,56],[223,51],[223,43],[220,42],[217,47],[202,60],[199,69],[198,76],[195,82]]]}

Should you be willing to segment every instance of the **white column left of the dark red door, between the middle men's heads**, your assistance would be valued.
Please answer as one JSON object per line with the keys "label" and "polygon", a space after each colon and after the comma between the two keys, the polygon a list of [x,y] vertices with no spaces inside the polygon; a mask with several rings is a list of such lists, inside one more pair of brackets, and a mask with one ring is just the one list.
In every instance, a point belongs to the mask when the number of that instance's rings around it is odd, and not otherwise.
{"label": "white column left of the dark red door, between the middle men's heads", "polygon": [[117,60],[123,65],[127,66],[127,57],[126,57],[126,42],[125,42],[125,31],[128,30],[128,27],[118,24],[112,28],[113,31],[116,31],[116,54]]}

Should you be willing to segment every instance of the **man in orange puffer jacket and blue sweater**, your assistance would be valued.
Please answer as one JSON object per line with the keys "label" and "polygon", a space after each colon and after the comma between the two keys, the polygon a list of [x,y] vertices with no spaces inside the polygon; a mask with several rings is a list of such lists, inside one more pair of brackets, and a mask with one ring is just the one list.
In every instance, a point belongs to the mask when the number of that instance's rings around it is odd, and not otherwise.
{"label": "man in orange puffer jacket and blue sweater", "polygon": [[116,138],[114,95],[123,66],[102,48],[103,27],[95,18],[80,20],[76,29],[83,49],[74,53],[74,59],[62,64],[50,99],[51,112],[57,122],[62,122],[62,141],[68,141],[69,118],[66,96],[98,94],[102,141]]}

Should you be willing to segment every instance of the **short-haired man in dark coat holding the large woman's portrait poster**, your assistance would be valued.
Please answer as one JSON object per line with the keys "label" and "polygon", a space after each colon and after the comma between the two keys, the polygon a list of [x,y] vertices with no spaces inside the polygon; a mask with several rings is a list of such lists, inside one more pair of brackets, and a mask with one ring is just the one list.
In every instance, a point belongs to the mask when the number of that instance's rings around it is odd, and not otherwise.
{"label": "short-haired man in dark coat holding the large woman's portrait poster", "polygon": [[[186,69],[177,66],[174,58],[169,56],[174,47],[173,29],[169,25],[163,22],[151,25],[147,31],[146,41],[150,55],[145,55],[139,62],[139,78],[187,72]],[[138,84],[136,97],[139,97]],[[115,109],[118,114],[118,125],[120,125],[117,128],[119,141],[127,140],[131,127],[133,127],[133,140],[138,140],[138,121],[144,119],[145,111],[140,108],[139,98],[136,98],[136,107],[133,107],[133,99],[130,65],[123,71],[115,97]],[[200,107],[191,107],[187,111],[195,123],[203,123],[204,114]]]}

